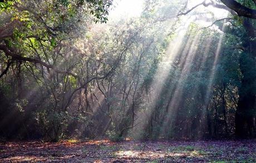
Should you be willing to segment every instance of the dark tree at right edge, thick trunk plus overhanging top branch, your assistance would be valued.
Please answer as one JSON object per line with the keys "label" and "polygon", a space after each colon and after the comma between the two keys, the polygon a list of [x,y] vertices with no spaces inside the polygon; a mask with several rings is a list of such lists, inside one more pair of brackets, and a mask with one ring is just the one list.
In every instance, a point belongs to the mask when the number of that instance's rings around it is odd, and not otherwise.
{"label": "dark tree at right edge, thick trunk plus overhanging top branch", "polygon": [[[234,45],[234,49],[242,49],[244,52],[240,54],[240,72],[241,76],[241,86],[239,87],[239,100],[238,108],[235,114],[235,133],[238,137],[248,137],[253,136],[253,119],[254,119],[254,110],[255,110],[255,80],[254,70],[255,70],[255,27],[252,19],[256,18],[256,12],[253,7],[256,5],[255,1],[241,4],[233,0],[221,0],[220,3],[215,3],[214,1],[202,2],[197,6],[189,9],[187,12],[181,12],[181,14],[187,14],[193,9],[200,5],[204,6],[213,6],[216,8],[227,9],[234,17],[234,21],[240,21],[242,24],[237,24],[237,27],[230,27],[231,30],[225,30],[225,33],[234,34],[238,36],[238,33],[235,30],[245,30],[243,33],[245,35],[240,37],[242,45]],[[245,2],[245,1],[241,1]],[[251,19],[250,19],[251,18]],[[242,27],[239,27],[242,26]],[[239,37],[239,36],[238,36]]]}

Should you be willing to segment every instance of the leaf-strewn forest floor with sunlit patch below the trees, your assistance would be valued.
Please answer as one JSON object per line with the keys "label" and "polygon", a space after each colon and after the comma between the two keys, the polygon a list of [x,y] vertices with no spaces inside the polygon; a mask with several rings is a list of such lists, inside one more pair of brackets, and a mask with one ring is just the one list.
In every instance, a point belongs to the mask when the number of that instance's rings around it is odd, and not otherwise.
{"label": "leaf-strewn forest floor with sunlit patch below the trees", "polygon": [[256,162],[256,140],[5,142],[0,162]]}

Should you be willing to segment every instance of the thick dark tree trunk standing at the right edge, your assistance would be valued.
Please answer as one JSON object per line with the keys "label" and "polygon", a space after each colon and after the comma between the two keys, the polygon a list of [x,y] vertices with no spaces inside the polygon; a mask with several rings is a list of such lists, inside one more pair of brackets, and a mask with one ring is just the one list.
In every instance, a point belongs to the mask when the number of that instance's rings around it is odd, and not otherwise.
{"label": "thick dark tree trunk standing at the right edge", "polygon": [[[238,138],[253,136],[253,119],[255,109],[255,60],[252,43],[248,43],[247,52],[241,54],[240,71],[242,73],[241,86],[239,88],[238,108],[235,113],[235,135]],[[255,45],[255,44],[254,44]],[[254,46],[253,46],[254,47]]]}

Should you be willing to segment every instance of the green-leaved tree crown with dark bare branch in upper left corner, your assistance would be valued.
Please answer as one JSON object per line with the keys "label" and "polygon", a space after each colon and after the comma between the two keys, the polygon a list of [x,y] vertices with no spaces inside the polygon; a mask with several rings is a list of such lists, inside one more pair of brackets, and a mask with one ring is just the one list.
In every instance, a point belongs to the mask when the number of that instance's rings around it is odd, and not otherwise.
{"label": "green-leaved tree crown with dark bare branch in upper left corner", "polygon": [[[106,22],[106,15],[112,1],[6,1],[0,3],[2,27],[0,50],[6,55],[7,67],[0,75],[7,73],[11,64],[31,62],[40,64],[57,73],[67,73],[77,78],[77,75],[56,68],[56,65],[38,54],[26,55],[27,44],[33,48],[44,46],[56,47],[60,44],[63,33],[74,27],[80,21],[79,14],[92,14],[95,22]],[[40,12],[38,12],[40,11]],[[37,48],[36,47],[36,48]],[[19,50],[17,50],[19,49]]]}

